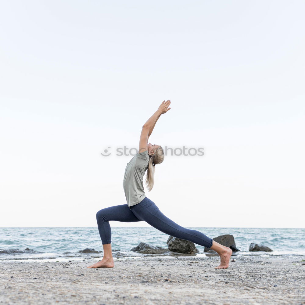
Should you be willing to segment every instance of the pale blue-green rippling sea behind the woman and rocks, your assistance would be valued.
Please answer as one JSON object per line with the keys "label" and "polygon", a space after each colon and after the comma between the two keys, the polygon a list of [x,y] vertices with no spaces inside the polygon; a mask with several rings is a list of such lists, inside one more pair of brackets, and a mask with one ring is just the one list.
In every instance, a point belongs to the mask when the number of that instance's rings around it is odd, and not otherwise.
{"label": "pale blue-green rippling sea behind the woman and rocks", "polygon": [[[198,230],[213,238],[223,234],[234,236],[236,247],[240,252],[236,256],[304,256],[304,228],[201,228]],[[153,227],[111,227],[112,250],[114,259],[157,256],[130,251],[140,242],[167,248],[169,235]],[[250,243],[268,246],[272,252],[249,252]],[[204,247],[195,244],[197,254],[181,256],[205,257]],[[95,252],[83,253],[84,249]],[[27,249],[27,250],[26,250]],[[99,259],[103,256],[103,247],[97,227],[0,227],[0,261],[75,261]],[[162,255],[163,258],[170,257]],[[178,256],[177,256],[178,257]]]}

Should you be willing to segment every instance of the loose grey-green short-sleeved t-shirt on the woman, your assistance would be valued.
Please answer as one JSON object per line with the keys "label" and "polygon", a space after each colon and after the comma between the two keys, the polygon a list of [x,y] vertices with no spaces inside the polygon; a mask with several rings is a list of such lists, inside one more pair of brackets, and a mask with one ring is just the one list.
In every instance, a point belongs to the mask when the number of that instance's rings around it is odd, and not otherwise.
{"label": "loose grey-green short-sleeved t-shirt on the woman", "polygon": [[129,208],[145,198],[143,176],[148,167],[148,162],[149,156],[146,150],[145,152],[138,152],[127,163],[123,179],[123,188]]}

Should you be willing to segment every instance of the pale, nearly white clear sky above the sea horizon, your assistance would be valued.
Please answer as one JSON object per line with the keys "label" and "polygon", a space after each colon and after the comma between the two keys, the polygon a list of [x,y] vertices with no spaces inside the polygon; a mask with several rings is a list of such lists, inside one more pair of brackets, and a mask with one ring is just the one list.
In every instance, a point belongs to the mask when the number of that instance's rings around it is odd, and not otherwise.
{"label": "pale, nearly white clear sky above the sea horizon", "polygon": [[[9,1],[0,11],[0,226],[96,227],[126,204],[149,138],[146,196],[185,227],[304,228],[303,1]],[[102,156],[107,149],[110,156]],[[145,222],[112,226],[149,226]]]}

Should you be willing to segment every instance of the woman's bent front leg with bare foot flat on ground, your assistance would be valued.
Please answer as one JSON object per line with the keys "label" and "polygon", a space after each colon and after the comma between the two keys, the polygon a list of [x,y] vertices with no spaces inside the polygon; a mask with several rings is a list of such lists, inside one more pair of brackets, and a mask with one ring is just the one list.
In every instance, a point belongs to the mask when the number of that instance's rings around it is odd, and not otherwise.
{"label": "woman's bent front leg with bare foot flat on ground", "polygon": [[111,220],[122,222],[141,221],[134,215],[134,213],[131,212],[127,204],[110,206],[108,208],[99,210],[96,213],[96,221],[99,228],[99,235],[102,239],[104,256],[101,261],[88,266],[87,268],[112,268],[114,266],[111,250],[111,227],[109,224],[109,221]]}

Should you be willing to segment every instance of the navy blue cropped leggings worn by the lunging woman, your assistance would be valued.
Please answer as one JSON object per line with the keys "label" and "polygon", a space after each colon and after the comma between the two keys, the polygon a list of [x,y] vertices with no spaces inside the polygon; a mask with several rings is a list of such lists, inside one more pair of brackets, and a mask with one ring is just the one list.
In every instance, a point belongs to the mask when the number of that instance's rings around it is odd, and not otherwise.
{"label": "navy blue cropped leggings worn by the lunging woman", "polygon": [[122,222],[146,221],[152,227],[165,234],[189,240],[200,246],[210,248],[213,243],[213,240],[203,233],[183,228],[167,218],[160,212],[156,204],[147,197],[130,208],[127,204],[121,204],[99,210],[96,213],[96,220],[103,245],[111,243],[110,220]]}

